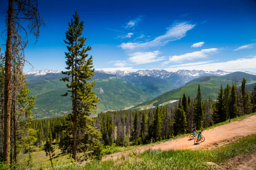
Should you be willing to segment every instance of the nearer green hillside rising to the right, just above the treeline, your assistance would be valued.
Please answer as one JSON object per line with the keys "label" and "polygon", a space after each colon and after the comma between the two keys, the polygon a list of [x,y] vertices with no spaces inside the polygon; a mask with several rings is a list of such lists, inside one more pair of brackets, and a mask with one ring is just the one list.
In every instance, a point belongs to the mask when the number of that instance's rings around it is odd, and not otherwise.
{"label": "nearer green hillside rising to the right, just above the treeline", "polygon": [[[245,72],[233,72],[231,74],[219,77],[198,77],[186,83],[182,87],[168,92],[164,92],[163,94],[159,95],[154,99],[138,104],[135,107],[132,107],[131,110],[147,109],[152,106],[156,106],[157,103],[168,104],[170,102],[178,100],[180,97],[182,97],[184,93],[194,98],[197,93],[198,84],[200,84],[202,99],[205,99],[206,97],[211,97],[212,99],[214,99],[218,95],[221,84],[223,85],[223,87],[225,87],[227,84],[232,84],[232,82],[235,82],[234,80],[236,79],[237,85],[239,86],[241,85],[241,80],[243,79],[243,77],[246,77],[248,85],[256,82],[256,75],[251,75]],[[251,85],[249,87],[251,87]]]}

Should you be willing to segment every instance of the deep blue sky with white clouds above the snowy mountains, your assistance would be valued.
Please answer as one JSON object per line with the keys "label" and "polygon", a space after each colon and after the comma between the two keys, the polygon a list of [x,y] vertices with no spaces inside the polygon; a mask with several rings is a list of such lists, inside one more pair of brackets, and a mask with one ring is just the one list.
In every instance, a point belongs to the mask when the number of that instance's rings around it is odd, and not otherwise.
{"label": "deep blue sky with white clouds above the snowy mountains", "polygon": [[[5,30],[7,0],[0,2]],[[77,10],[95,69],[256,72],[256,1],[38,0],[46,27],[25,55],[35,70],[64,70],[68,22]],[[5,44],[6,34],[0,38]],[[2,46],[2,51],[5,46]],[[28,64],[24,71],[31,70]]]}

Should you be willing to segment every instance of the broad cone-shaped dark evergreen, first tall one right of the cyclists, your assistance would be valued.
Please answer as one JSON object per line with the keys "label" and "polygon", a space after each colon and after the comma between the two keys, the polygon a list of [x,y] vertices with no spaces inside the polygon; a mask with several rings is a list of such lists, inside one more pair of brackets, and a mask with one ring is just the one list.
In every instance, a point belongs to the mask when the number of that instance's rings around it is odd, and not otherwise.
{"label": "broad cone-shaped dark evergreen, first tall one right of the cyclists", "polygon": [[223,100],[223,87],[220,85],[220,93],[218,94],[217,101],[215,104],[214,114],[213,114],[214,123],[224,122],[226,120],[225,113],[225,103]]}

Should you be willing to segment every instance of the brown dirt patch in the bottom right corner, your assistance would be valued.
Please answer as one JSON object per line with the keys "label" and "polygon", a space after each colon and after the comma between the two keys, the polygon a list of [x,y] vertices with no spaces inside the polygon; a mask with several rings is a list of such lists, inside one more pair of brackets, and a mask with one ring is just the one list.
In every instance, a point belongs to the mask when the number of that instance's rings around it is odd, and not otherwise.
{"label": "brown dirt patch in the bottom right corner", "polygon": [[231,158],[219,170],[256,170],[256,152]]}

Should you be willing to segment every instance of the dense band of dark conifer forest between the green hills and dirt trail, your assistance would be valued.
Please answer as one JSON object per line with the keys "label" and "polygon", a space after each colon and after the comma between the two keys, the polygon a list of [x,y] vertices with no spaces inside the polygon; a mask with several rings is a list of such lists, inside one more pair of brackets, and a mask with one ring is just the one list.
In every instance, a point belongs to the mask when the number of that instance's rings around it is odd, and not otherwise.
{"label": "dense band of dark conifer forest between the green hills and dirt trail", "polygon": [[[157,105],[149,110],[102,112],[93,119],[95,128],[99,129],[102,135],[102,144],[139,145],[190,133],[193,126],[203,129],[229,118],[255,112],[255,106],[256,86],[253,92],[248,92],[244,78],[238,89],[235,84],[227,85],[224,89],[221,85],[215,101],[210,97],[203,101],[198,85],[195,98],[184,94],[179,102],[172,105]],[[69,142],[65,137],[65,128],[61,128],[68,126],[64,117],[35,120],[31,125],[39,130],[38,146],[46,138],[56,139],[60,148]],[[64,152],[71,152],[69,149],[64,148]]]}

